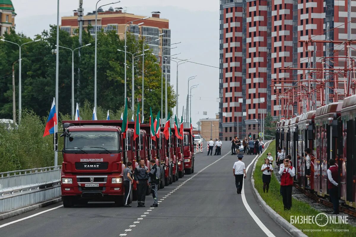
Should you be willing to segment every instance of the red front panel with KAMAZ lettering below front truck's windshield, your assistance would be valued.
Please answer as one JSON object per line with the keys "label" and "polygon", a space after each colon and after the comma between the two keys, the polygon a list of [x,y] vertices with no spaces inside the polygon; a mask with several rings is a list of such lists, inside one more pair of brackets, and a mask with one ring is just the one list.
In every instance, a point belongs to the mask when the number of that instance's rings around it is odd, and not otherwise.
{"label": "red front panel with KAMAZ lettering below front truck's windshield", "polygon": [[121,153],[63,154],[64,173],[121,173]]}

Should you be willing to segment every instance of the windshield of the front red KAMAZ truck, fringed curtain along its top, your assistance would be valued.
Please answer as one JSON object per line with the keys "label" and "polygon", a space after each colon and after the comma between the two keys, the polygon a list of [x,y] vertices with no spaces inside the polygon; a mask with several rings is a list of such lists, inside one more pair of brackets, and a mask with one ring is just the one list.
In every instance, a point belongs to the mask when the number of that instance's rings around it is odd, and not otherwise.
{"label": "windshield of the front red KAMAZ truck, fringed curtain along its top", "polygon": [[115,131],[72,131],[70,139],[65,138],[65,149],[73,152],[105,152],[105,149],[117,151],[119,150],[119,134]]}

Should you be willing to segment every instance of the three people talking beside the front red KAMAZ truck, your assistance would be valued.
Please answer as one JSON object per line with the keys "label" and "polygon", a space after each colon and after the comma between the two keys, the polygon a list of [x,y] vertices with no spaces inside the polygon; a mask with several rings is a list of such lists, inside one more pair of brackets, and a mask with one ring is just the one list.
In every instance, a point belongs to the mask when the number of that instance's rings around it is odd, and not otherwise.
{"label": "three people talking beside the front red KAMAZ truck", "polygon": [[158,184],[159,178],[161,174],[161,170],[156,165],[156,160],[150,160],[151,170],[148,170],[148,167],[145,166],[145,160],[141,158],[140,166],[137,166],[133,171],[132,177],[132,162],[128,161],[126,163],[126,168],[123,171],[124,176],[124,189],[125,189],[125,207],[130,208],[130,194],[131,194],[131,186],[133,182],[136,182],[137,188],[137,207],[145,207],[145,199],[146,199],[146,191],[148,183],[151,184],[153,204],[151,207],[158,207]]}

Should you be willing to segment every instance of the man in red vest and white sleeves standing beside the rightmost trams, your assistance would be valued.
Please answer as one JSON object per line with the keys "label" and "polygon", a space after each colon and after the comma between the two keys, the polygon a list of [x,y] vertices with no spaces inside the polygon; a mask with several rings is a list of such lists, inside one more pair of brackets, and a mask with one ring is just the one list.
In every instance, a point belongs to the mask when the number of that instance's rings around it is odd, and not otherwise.
{"label": "man in red vest and white sleeves standing beside the rightmost trams", "polygon": [[339,194],[338,194],[338,187],[339,184],[337,183],[338,179],[338,171],[337,167],[335,166],[335,160],[329,160],[329,169],[326,171],[328,174],[328,188],[331,202],[333,203],[334,212],[333,214],[339,214]]}

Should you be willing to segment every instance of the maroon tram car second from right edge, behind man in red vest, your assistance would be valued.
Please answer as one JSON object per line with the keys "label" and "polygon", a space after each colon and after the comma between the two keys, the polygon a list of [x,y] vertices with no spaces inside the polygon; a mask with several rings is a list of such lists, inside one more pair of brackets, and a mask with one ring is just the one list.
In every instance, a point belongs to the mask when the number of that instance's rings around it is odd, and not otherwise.
{"label": "maroon tram car second from right edge, behind man in red vest", "polygon": [[[319,175],[314,182],[314,191],[319,196],[328,195],[328,176],[326,171],[329,168],[328,162],[330,158],[338,160],[338,124],[341,125],[340,113],[342,104],[343,102],[334,102],[316,109],[314,119],[316,136],[314,136],[314,143],[316,153],[319,155],[316,156],[318,170],[315,171],[314,166],[314,172],[318,173]],[[341,136],[339,140],[341,140]]]}

